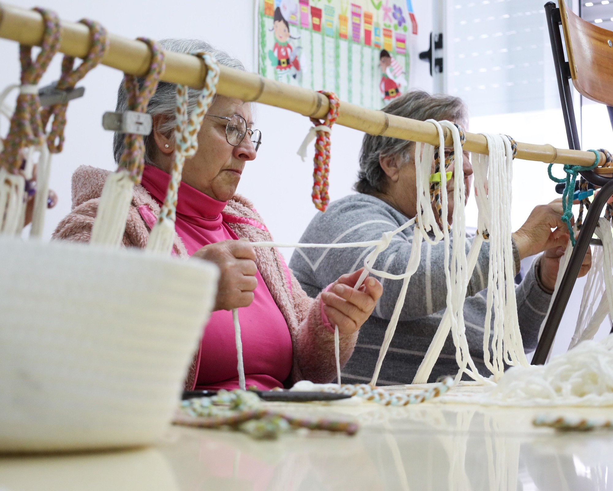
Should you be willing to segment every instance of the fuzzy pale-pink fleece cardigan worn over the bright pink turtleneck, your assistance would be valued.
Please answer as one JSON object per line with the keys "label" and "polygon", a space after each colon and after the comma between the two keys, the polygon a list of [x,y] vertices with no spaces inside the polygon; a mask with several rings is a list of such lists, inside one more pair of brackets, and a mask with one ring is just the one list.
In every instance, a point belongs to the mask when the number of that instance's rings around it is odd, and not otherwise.
{"label": "fuzzy pale-pink fleece cardigan worn over the bright pink turtleneck", "polygon": [[[72,211],[59,222],[53,239],[89,242],[91,227],[96,217],[98,201],[104,182],[110,172],[91,166],[80,166],[72,175]],[[128,214],[126,233],[123,238],[125,247],[147,245],[150,229],[144,222],[139,208],[146,206],[157,217],[159,205],[142,186],[134,187],[132,206]],[[224,221],[239,238],[251,242],[272,241],[272,235],[264,226],[262,218],[246,198],[234,195],[223,211]],[[179,236],[175,233],[174,251],[179,257],[188,254]],[[334,334],[329,325],[322,321],[321,299],[309,298],[289,271],[277,249],[257,248],[256,265],[268,290],[287,322],[292,339],[292,370],[287,382],[294,384],[300,380],[316,383],[332,381],[336,376],[334,360]],[[287,281],[287,274],[291,284]],[[357,332],[341,334],[340,361],[344,366],[353,352]],[[194,356],[185,381],[185,387],[195,384],[196,368],[200,352]]]}

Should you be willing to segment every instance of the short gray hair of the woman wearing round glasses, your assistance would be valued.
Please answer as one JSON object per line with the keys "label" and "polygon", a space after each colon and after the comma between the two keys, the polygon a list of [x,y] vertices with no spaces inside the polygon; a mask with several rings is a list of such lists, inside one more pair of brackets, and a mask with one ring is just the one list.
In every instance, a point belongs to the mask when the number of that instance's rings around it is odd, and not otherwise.
{"label": "short gray hair of the woman wearing round glasses", "polygon": [[[212,45],[208,44],[206,41],[202,41],[201,39],[162,39],[159,41],[159,44],[162,45],[164,50],[173,51],[176,53],[190,53],[192,51],[206,51],[211,53],[211,55],[215,56],[217,63],[229,66],[230,68],[235,68],[238,70],[245,70],[245,66],[240,60],[230,56],[223,50],[219,50]],[[139,79],[139,87],[142,87],[143,79]],[[189,96],[189,105],[188,105],[188,114],[191,114],[196,107],[196,100],[200,95],[200,90],[189,88],[188,96]],[[169,82],[160,82],[158,83],[158,90],[154,93],[153,97],[151,97],[149,101],[149,105],[147,107],[147,113],[152,117],[163,114],[167,117],[166,122],[164,122],[161,126],[156,128],[161,133],[167,134],[170,137],[174,137],[174,128],[176,124],[175,118],[175,109],[177,107],[177,84],[169,83]],[[128,110],[128,94],[126,93],[126,88],[123,85],[123,80],[121,80],[120,86],[117,90],[117,106],[116,112],[124,112]],[[155,165],[153,162],[154,155],[154,139],[153,132],[143,137],[145,142],[145,164],[147,165]],[[124,135],[122,133],[115,133],[113,137],[113,156],[115,157],[115,162],[119,164],[121,159],[121,154],[124,150]]]}

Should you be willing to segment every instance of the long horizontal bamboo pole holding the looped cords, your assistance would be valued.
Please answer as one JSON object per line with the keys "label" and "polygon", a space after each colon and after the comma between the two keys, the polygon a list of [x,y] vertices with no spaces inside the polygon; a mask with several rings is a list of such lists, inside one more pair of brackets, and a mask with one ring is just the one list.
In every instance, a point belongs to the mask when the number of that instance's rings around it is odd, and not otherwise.
{"label": "long horizontal bamboo pole holding the looped cords", "polygon": [[[83,58],[89,50],[89,29],[80,23],[61,22],[59,51],[66,55]],[[42,15],[34,10],[0,4],[0,37],[24,45],[40,45],[43,36]],[[134,39],[109,34],[109,50],[102,64],[132,75],[147,73],[150,52],[145,43]],[[181,53],[166,52],[166,69],[161,75],[165,82],[181,83],[202,88],[206,68],[200,58]],[[243,101],[261,102],[269,106],[297,112],[304,116],[323,119],[328,111],[326,96],[301,87],[276,82],[257,74],[221,66],[217,91],[219,94]],[[404,140],[438,144],[436,128],[431,123],[403,118],[383,111],[341,102],[337,125],[348,126],[365,133],[390,136]],[[452,144],[451,132],[445,131],[446,144]],[[488,153],[485,137],[466,132],[464,149],[470,152]],[[517,158],[545,163],[591,166],[595,161],[592,152],[556,149],[553,145],[535,145],[517,142]],[[601,154],[601,162],[604,163]]]}

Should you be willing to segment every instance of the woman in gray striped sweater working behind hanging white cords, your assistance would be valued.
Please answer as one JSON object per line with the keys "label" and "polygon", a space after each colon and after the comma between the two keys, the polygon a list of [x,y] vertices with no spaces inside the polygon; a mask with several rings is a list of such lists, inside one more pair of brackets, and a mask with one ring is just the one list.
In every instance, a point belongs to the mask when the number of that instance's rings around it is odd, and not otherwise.
{"label": "woman in gray striped sweater working behind hanging white cords", "polygon": [[[411,91],[394,99],[384,109],[389,114],[425,121],[449,120],[468,128],[466,106],[461,99],[446,95],[431,96],[423,91]],[[371,241],[391,231],[416,215],[416,185],[414,142],[384,136],[365,135],[360,153],[360,171],[355,185],[356,195],[333,202],[325,213],[318,213],[300,242],[333,243]],[[447,149],[448,151],[449,149]],[[453,170],[452,168],[449,170]],[[472,188],[472,168],[468,152],[463,155],[466,199]],[[451,225],[453,184],[447,180]],[[522,258],[541,252],[533,261],[524,279],[516,287],[519,326],[524,348],[536,347],[538,331],[555,285],[560,257],[568,242],[566,225],[560,220],[562,206],[557,201],[535,207],[524,225],[512,235],[516,273]],[[552,231],[552,229],[555,229]],[[473,234],[466,234],[466,252]],[[453,240],[453,231],[451,231]],[[405,272],[411,253],[413,226],[392,239],[379,255],[375,268],[392,274]],[[422,242],[421,263],[409,282],[400,321],[379,374],[381,385],[410,384],[438,328],[446,307],[446,283],[443,269],[444,244]],[[340,274],[362,266],[371,249],[296,249],[289,263],[302,288],[316,296]],[[586,256],[581,275],[590,268],[591,256]],[[483,330],[485,298],[489,265],[489,244],[481,247],[476,268],[468,285],[464,306],[466,338],[471,356],[479,373],[489,376],[483,361]],[[375,312],[364,323],[352,357],[341,376],[346,383],[369,382],[383,342],[383,336],[394,311],[402,282],[384,280],[383,296]],[[451,333],[428,381],[442,375],[457,373],[455,347]],[[466,376],[465,376],[466,377]]]}

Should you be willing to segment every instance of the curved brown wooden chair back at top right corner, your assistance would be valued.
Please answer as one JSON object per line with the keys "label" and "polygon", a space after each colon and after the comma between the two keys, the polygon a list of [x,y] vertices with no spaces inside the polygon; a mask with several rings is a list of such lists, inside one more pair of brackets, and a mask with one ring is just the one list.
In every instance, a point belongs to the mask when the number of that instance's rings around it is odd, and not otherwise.
{"label": "curved brown wooden chair back at top right corner", "polygon": [[559,1],[574,87],[592,101],[613,106],[613,31],[583,20]]}

